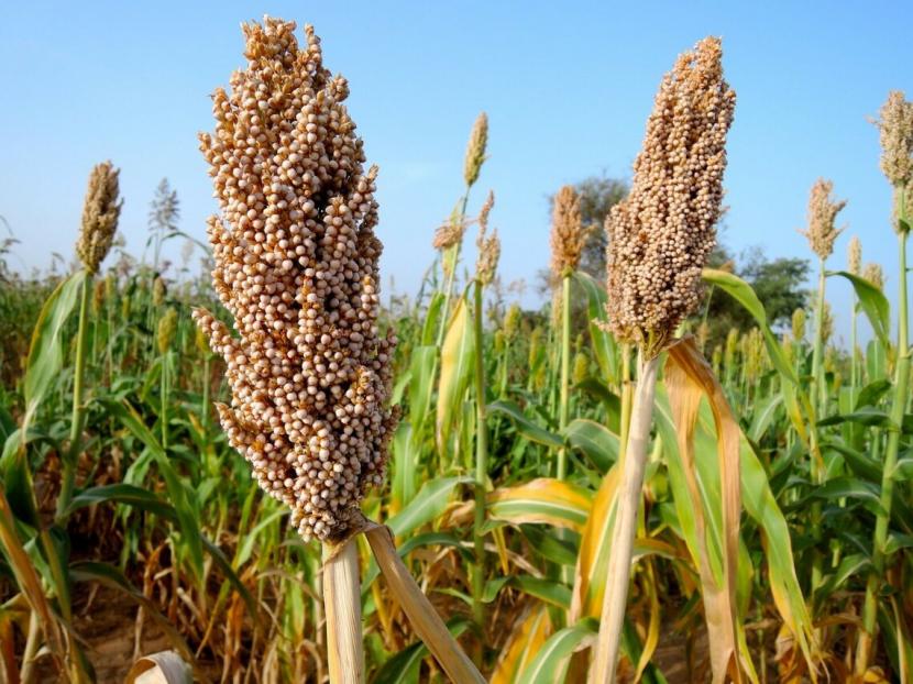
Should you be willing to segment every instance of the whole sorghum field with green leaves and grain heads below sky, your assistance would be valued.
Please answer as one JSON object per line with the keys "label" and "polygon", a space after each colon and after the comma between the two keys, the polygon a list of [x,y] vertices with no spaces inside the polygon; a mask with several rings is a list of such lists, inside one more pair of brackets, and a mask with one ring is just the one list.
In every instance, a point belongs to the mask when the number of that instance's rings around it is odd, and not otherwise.
{"label": "whole sorghum field with green leaves and grain heads below sky", "polygon": [[[717,247],[739,85],[707,37],[668,55],[610,209],[554,194],[540,310],[497,277],[484,113],[437,260],[382,299],[348,82],[309,26],[244,41],[207,227],[163,185],[131,258],[112,161],[73,269],[2,245],[0,680],[913,682],[902,92],[872,103],[891,297],[826,179],[791,324]],[[208,267],[166,266],[173,240]]]}

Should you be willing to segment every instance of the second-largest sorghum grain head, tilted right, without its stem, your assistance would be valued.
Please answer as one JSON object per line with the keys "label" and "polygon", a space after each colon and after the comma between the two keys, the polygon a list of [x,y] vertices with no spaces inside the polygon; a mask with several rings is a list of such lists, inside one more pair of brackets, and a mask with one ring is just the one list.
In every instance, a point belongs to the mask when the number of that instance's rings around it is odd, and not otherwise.
{"label": "second-largest sorghum grain head, tilted right, without its stem", "polygon": [[696,308],[716,244],[726,134],[736,95],[718,38],[704,38],[662,79],[628,197],[606,219],[608,327],[658,354]]}

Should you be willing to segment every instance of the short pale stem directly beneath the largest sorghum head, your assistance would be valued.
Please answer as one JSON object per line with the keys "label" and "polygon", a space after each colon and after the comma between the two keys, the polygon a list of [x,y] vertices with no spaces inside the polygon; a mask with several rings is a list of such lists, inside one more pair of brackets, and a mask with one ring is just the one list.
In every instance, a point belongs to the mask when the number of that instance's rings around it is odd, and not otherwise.
{"label": "short pale stem directly beneath the largest sorghum head", "polygon": [[[336,551],[336,553],[333,553]],[[362,599],[354,538],[339,549],[323,544],[323,607],[330,684],[363,684]]]}

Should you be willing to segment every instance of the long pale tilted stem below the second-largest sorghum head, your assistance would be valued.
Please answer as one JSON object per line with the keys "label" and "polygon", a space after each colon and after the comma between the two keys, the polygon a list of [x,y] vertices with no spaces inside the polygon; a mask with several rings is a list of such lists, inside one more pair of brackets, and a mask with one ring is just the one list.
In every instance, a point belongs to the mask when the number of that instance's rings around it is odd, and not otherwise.
{"label": "long pale tilted stem below the second-largest sorghum head", "polygon": [[603,596],[595,662],[590,676],[591,684],[614,684],[622,642],[622,627],[625,620],[634,537],[644,486],[644,470],[647,464],[647,445],[650,441],[659,358],[645,361],[641,353],[638,365],[640,373],[631,407],[627,449],[622,463],[622,488],[616,503],[612,552]]}

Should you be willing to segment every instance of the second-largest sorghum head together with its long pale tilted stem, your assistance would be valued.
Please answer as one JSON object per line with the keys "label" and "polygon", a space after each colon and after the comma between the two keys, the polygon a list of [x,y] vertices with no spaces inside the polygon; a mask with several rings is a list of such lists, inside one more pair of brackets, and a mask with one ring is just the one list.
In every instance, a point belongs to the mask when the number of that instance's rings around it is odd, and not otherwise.
{"label": "second-largest sorghum head together with its long pale tilted stem", "polygon": [[608,327],[639,347],[622,488],[591,682],[615,681],[658,357],[700,304],[701,272],[716,242],[726,134],[735,92],[723,78],[718,38],[679,57],[660,86],[628,197],[606,220]]}

